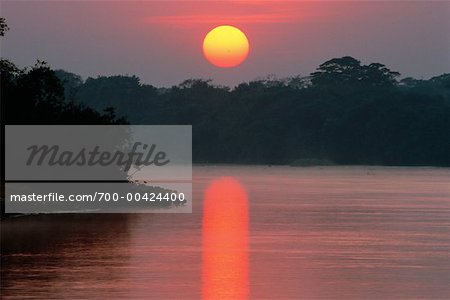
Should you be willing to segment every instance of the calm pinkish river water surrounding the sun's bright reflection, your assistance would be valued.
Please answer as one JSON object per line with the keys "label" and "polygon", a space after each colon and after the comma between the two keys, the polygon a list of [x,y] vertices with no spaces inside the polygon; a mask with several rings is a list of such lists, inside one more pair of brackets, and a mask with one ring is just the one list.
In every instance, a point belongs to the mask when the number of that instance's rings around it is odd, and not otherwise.
{"label": "calm pinkish river water surrounding the sun's bright reflection", "polygon": [[248,278],[227,275],[249,299],[450,299],[450,169],[262,166],[195,167],[192,214],[3,222],[2,298],[202,298],[202,197],[225,175],[249,199]]}

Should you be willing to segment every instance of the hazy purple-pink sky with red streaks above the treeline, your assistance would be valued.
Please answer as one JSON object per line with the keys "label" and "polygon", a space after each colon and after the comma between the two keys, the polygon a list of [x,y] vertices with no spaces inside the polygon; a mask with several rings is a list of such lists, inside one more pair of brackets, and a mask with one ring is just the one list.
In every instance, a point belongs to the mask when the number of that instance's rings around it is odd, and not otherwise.
{"label": "hazy purple-pink sky with red streaks above the treeline", "polygon": [[[44,60],[84,79],[136,75],[170,87],[204,78],[234,86],[305,76],[347,55],[403,77],[450,72],[448,1],[0,1],[10,27],[2,57],[20,67]],[[203,57],[203,38],[223,24],[250,42],[235,68]]]}

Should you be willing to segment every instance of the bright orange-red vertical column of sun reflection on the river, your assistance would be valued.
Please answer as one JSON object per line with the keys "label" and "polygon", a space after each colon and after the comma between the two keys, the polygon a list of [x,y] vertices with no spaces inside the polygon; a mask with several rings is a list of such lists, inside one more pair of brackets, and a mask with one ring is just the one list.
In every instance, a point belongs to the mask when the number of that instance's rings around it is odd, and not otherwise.
{"label": "bright orange-red vertical column of sun reflection on the river", "polygon": [[214,180],[203,207],[203,299],[247,299],[249,295],[248,199],[232,177]]}

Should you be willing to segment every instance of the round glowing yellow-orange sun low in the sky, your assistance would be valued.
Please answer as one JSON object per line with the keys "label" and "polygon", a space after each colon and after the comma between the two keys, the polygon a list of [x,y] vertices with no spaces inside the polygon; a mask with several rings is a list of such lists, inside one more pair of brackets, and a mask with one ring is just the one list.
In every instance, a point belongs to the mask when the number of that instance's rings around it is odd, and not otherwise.
{"label": "round glowing yellow-orange sun low in the sky", "polygon": [[203,40],[203,54],[206,59],[220,68],[240,65],[247,58],[249,48],[245,34],[229,25],[214,28]]}

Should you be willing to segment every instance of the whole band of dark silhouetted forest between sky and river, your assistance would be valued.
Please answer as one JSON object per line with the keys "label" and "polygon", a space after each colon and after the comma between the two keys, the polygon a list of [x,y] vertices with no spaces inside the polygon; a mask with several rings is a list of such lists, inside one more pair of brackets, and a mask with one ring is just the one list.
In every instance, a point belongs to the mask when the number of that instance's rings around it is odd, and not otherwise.
{"label": "whole band of dark silhouetted forest between sky and river", "polygon": [[0,67],[6,124],[191,124],[194,162],[450,166],[450,74],[400,80],[346,56],[304,77],[157,88]]}

